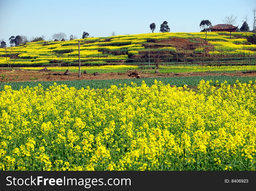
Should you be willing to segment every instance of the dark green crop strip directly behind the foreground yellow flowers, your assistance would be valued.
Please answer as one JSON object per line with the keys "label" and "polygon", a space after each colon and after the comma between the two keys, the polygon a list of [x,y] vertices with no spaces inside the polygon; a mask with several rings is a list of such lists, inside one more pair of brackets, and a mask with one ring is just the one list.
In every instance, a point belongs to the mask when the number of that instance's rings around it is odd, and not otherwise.
{"label": "dark green crop strip directly behind the foreground yellow flowers", "polygon": [[159,78],[143,78],[143,79],[111,79],[111,80],[66,80],[66,81],[27,81],[27,82],[3,82],[0,83],[0,91],[3,90],[5,85],[11,86],[14,90],[19,90],[20,86],[22,87],[34,87],[37,86],[38,83],[42,84],[44,88],[48,88],[52,86],[54,82],[57,84],[66,84],[67,87],[75,87],[76,89],[86,88],[90,86],[90,88],[110,88],[111,85],[122,86],[124,84],[131,84],[131,82],[137,83],[139,86],[142,84],[142,80],[148,86],[154,84],[154,80],[162,81],[164,84],[170,84],[175,86],[184,86],[184,84],[188,86],[197,86],[199,82],[203,79],[205,81],[216,81],[218,80],[220,83],[225,80],[229,84],[236,83],[236,80],[239,80],[241,83],[248,83],[248,81],[255,81],[256,77],[233,77],[233,76],[191,76],[191,77],[159,77]]}

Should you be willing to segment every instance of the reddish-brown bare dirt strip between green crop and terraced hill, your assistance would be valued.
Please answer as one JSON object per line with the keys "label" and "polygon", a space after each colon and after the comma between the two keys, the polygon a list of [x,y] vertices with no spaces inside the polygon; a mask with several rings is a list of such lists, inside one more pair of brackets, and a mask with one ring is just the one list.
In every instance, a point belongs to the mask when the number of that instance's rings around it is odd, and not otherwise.
{"label": "reddish-brown bare dirt strip between green crop and terraced hill", "polygon": [[[207,73],[207,72],[186,72],[186,73],[169,73],[169,74],[150,74],[145,73],[143,70],[136,70],[145,78],[156,78],[156,77],[189,77],[189,76],[238,76],[238,77],[256,77],[256,72],[248,73]],[[2,82],[20,82],[20,81],[60,81],[60,80],[79,80],[77,73],[72,73],[64,76],[64,72],[39,72],[32,70],[0,70],[0,79]],[[125,73],[107,73],[94,76],[93,74],[81,74],[80,79],[94,80],[94,79],[131,79]],[[3,77],[4,76],[4,77]],[[2,79],[3,78],[3,79]]]}

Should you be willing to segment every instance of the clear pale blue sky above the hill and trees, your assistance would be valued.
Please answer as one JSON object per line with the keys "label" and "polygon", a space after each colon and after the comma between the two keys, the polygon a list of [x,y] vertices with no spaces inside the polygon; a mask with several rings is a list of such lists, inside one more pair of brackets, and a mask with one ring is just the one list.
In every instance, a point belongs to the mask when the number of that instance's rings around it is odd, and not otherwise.
{"label": "clear pale blue sky above the hill and trees", "polygon": [[[167,21],[170,32],[199,32],[199,23],[208,19],[213,25],[223,23],[226,15],[239,15],[241,27],[243,16],[248,14],[248,25],[253,26],[254,0],[205,0],[205,1],[79,1],[79,0],[0,0],[0,39],[10,36],[31,37],[64,32],[81,38],[83,31],[92,37],[149,33],[150,23]],[[8,42],[6,42],[9,44]]]}

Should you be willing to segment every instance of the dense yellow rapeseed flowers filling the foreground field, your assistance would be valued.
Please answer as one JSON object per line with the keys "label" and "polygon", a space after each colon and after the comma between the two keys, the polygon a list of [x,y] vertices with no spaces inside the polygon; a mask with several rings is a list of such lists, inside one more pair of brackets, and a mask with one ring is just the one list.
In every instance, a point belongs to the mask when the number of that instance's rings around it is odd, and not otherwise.
{"label": "dense yellow rapeseed flowers filling the foreground field", "polygon": [[255,91],[252,81],[5,86],[0,170],[255,170]]}

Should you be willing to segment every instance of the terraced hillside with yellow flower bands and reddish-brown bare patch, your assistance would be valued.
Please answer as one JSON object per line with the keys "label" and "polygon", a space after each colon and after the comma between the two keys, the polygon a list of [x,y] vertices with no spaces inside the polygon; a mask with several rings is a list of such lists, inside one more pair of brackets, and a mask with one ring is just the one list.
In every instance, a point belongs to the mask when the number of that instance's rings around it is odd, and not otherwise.
{"label": "terraced hillside with yellow flower bands and reddish-brown bare patch", "polygon": [[[247,33],[250,37],[252,33]],[[243,32],[149,33],[75,39],[72,41],[38,41],[18,47],[0,48],[0,66],[77,66],[78,40],[82,66],[145,63],[193,63],[211,59],[255,59],[256,45]],[[152,60],[153,59],[153,60]]]}

